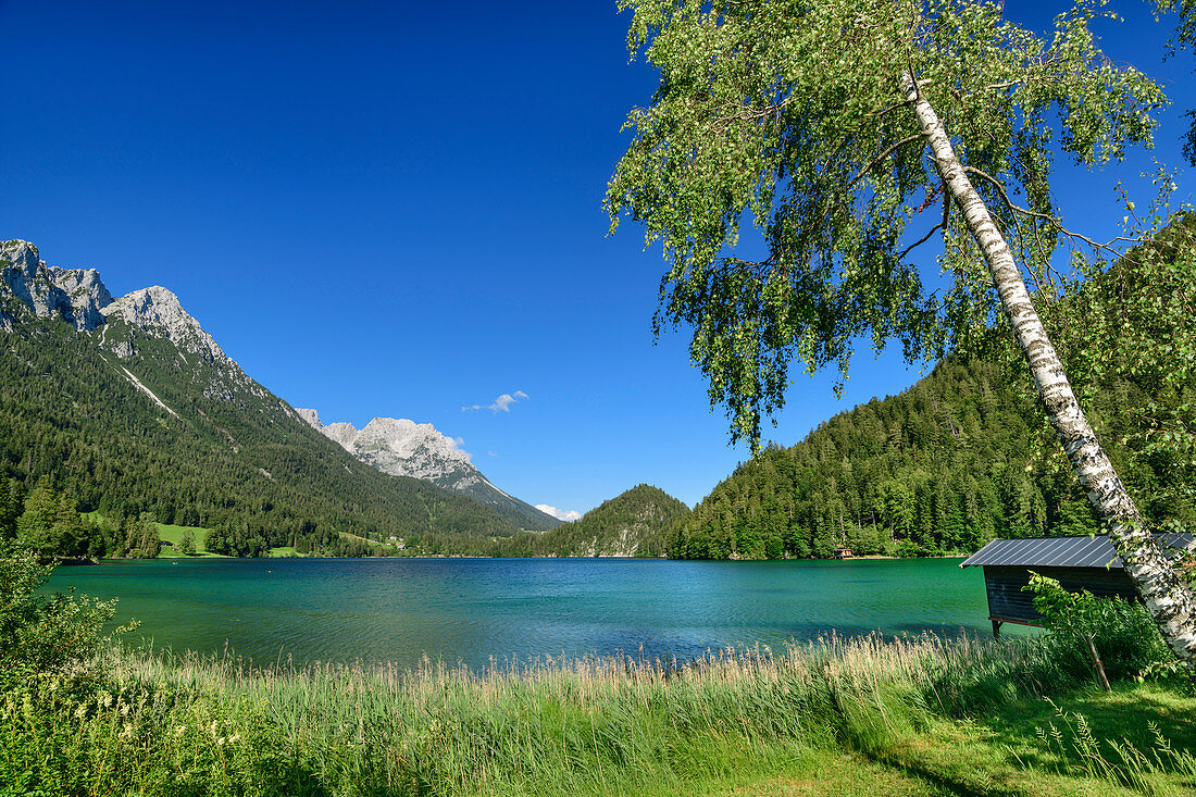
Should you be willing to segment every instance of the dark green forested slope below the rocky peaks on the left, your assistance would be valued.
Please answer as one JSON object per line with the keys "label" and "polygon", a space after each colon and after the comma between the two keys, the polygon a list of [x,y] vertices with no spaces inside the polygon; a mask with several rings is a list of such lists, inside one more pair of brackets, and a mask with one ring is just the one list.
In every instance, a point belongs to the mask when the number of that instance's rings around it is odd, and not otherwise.
{"label": "dark green forested slope below the rocky peaks on the left", "polygon": [[187,361],[138,330],[108,330],[109,342],[114,333],[134,357],[118,360],[55,320],[0,333],[0,480],[23,497],[45,479],[80,511],[214,529],[213,550],[239,555],[366,547],[341,533],[417,543],[519,531],[493,507],[358,462],[243,375]]}

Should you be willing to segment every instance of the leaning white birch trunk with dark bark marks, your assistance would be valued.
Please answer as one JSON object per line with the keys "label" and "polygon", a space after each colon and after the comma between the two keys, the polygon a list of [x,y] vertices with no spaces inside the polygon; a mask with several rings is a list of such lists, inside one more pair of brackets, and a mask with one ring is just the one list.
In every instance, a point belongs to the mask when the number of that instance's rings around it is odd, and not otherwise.
{"label": "leaning white birch trunk with dark bark marks", "polygon": [[1180,659],[1196,661],[1196,602],[1191,590],[1147,530],[1134,500],[1092,433],[1055,347],[1030,300],[1009,245],[993,223],[984,200],[968,180],[946,129],[909,73],[902,75],[902,92],[914,107],[939,176],[984,255],[1001,308],[1030,361],[1046,418],[1055,427],[1080,485],[1087,491],[1088,501],[1109,530],[1113,547],[1125,562],[1125,572],[1167,645]]}

